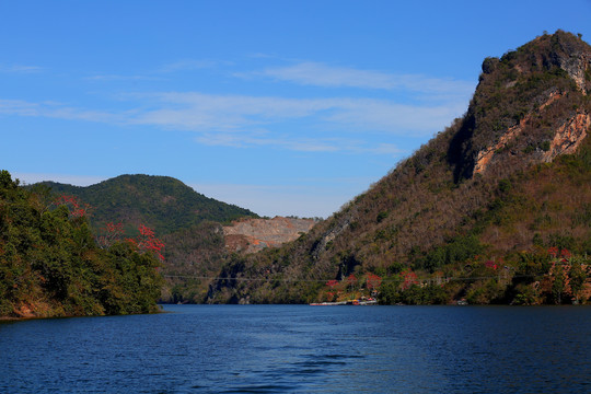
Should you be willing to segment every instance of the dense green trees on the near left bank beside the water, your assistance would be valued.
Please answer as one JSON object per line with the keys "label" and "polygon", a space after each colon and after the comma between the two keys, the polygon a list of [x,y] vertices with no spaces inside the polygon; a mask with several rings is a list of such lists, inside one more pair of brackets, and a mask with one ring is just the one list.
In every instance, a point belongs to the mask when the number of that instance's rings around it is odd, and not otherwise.
{"label": "dense green trees on the near left bank beside the water", "polygon": [[0,316],[155,312],[162,277],[150,233],[102,248],[77,199],[47,200],[0,172]]}

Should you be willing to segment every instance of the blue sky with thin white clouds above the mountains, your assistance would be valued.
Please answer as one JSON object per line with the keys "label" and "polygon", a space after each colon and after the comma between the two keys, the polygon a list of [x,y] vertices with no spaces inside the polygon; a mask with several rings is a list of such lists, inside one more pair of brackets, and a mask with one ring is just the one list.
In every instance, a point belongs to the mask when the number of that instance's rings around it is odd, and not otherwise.
{"label": "blue sky with thin white clouds above the mountains", "polygon": [[167,175],[327,217],[462,116],[487,56],[591,0],[3,1],[0,167],[90,185]]}

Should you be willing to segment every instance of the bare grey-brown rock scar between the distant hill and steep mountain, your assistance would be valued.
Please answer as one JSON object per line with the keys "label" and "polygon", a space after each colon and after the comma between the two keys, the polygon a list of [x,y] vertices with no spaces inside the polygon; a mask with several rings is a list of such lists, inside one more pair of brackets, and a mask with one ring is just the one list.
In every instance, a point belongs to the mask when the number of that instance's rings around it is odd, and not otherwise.
{"label": "bare grey-brown rock scar between the distant hill and steep mountain", "polygon": [[253,253],[297,240],[314,225],[313,219],[275,217],[245,219],[223,228],[225,247],[232,252]]}

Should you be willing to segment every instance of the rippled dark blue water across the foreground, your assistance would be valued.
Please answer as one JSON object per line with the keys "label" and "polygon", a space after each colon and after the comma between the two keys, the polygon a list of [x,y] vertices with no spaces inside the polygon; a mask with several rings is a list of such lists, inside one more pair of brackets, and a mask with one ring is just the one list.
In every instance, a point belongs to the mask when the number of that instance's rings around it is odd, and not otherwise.
{"label": "rippled dark blue water across the foreground", "polygon": [[586,306],[165,309],[1,323],[0,392],[591,392]]}

